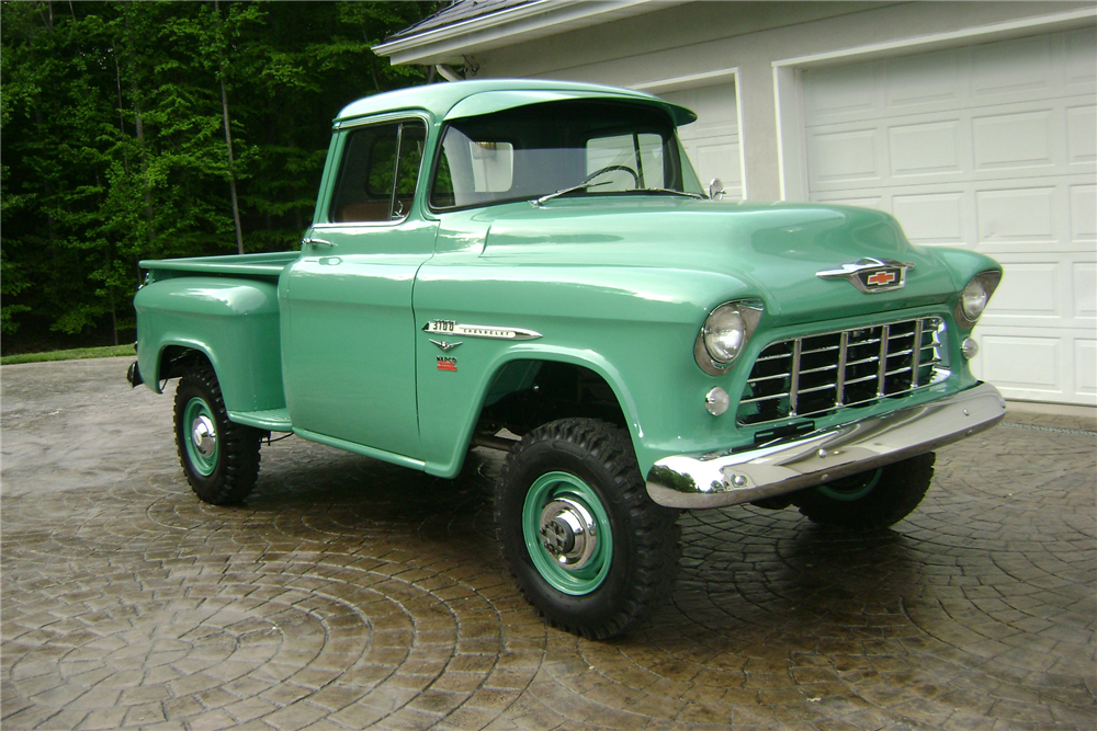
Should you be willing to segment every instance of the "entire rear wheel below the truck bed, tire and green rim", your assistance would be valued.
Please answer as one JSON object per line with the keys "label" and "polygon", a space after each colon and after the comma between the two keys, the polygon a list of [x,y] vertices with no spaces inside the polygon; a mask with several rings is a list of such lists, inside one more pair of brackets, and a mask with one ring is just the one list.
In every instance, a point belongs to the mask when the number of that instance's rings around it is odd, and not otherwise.
{"label": "entire rear wheel below the truck bed, tire and green rim", "polygon": [[176,447],[191,489],[203,502],[242,502],[259,478],[263,433],[228,419],[217,376],[208,364],[179,380],[174,404]]}

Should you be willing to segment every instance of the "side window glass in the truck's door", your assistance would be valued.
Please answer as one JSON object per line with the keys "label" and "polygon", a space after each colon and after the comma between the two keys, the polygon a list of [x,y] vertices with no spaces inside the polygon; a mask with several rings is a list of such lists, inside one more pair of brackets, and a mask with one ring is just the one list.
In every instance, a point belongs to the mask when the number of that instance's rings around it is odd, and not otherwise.
{"label": "side window glass in the truck's door", "polygon": [[399,220],[411,209],[427,127],[393,122],[348,133],[331,196],[332,222]]}

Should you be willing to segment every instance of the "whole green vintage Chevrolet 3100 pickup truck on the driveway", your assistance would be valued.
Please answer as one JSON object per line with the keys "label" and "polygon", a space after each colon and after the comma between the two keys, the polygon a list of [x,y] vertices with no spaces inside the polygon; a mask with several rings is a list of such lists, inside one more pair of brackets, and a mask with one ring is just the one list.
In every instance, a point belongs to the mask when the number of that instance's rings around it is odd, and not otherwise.
{"label": "whole green vintage Chevrolet 3100 pickup truck on the driveway", "polygon": [[968,365],[1000,267],[875,210],[721,201],[694,118],[580,83],[377,94],[335,121],[301,251],[142,262],[129,380],[180,379],[197,496],[244,500],[272,432],[444,478],[501,449],[507,563],[590,638],[669,591],[682,509],[901,521],[1005,413]]}

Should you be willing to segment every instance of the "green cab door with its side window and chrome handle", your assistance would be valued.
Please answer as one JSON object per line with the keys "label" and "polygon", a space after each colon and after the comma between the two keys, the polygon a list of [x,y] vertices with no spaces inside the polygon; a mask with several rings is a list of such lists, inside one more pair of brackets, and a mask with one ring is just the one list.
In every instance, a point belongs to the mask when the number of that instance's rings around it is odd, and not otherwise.
{"label": "green cab door with its side window and chrome handle", "polygon": [[421,118],[337,133],[330,196],[321,191],[326,205],[280,292],[294,429],[412,464],[420,447],[411,286],[437,229],[416,202],[426,136]]}

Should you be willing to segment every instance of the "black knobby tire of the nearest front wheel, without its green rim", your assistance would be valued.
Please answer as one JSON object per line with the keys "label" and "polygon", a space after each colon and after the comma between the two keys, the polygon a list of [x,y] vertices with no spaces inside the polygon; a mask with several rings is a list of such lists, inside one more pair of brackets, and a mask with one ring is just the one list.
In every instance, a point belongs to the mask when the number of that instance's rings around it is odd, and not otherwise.
{"label": "black knobby tire of the nearest front wheel, without its green rim", "polygon": [[[609,573],[579,596],[542,578],[522,535],[530,487],[557,470],[583,479],[599,495],[613,534]],[[529,432],[508,455],[496,488],[499,542],[522,594],[550,624],[588,639],[625,632],[669,593],[678,564],[677,519],[678,511],[648,496],[627,432],[592,419],[562,419]]]}

